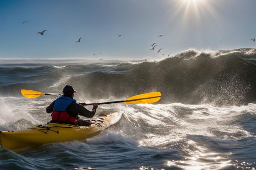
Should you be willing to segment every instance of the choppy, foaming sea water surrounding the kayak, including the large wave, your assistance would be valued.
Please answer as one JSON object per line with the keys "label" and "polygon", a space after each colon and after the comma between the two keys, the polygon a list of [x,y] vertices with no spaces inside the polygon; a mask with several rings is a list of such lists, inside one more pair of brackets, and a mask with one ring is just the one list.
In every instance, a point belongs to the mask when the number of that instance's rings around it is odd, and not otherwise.
{"label": "choppy, foaming sea water surrounding the kayak, including the large wave", "polygon": [[[54,97],[25,99],[20,89],[61,92],[84,102],[161,91],[157,104],[101,105],[122,113],[98,136],[44,144],[19,153],[0,149],[0,169],[256,168],[256,51],[185,51],[160,62],[0,64],[0,130],[49,121]],[[87,107],[90,108],[90,107]]]}

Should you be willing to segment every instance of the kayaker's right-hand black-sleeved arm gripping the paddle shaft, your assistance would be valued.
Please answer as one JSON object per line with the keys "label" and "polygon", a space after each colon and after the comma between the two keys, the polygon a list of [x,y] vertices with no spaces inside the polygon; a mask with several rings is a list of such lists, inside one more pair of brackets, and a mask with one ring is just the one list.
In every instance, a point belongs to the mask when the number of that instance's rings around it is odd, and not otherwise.
{"label": "kayaker's right-hand black-sleeved arm gripping the paddle shaft", "polygon": [[72,103],[67,107],[67,113],[70,115],[80,115],[87,118],[93,118],[96,113],[97,106],[94,106],[92,111],[88,111],[84,106],[78,103]]}

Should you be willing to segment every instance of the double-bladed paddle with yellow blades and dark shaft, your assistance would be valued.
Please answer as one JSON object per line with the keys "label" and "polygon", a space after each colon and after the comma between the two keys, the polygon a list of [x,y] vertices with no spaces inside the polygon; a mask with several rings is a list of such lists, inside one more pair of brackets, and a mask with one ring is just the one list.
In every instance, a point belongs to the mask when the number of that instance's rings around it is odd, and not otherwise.
{"label": "double-bladed paddle with yellow blades and dark shaft", "polygon": [[[22,89],[20,92],[26,98],[37,98],[41,95],[62,96],[62,94],[42,93],[38,91],[25,90],[25,89]],[[119,101],[113,101],[113,102],[102,102],[102,103],[99,103],[99,105],[105,105],[105,104],[111,104],[111,103],[126,103],[126,104],[154,103],[154,102],[158,102],[160,98],[161,98],[161,93],[157,91],[157,92],[150,92],[145,94],[139,94],[136,96],[131,96],[125,100],[119,100]],[[93,104],[89,103],[86,105],[93,105]]]}

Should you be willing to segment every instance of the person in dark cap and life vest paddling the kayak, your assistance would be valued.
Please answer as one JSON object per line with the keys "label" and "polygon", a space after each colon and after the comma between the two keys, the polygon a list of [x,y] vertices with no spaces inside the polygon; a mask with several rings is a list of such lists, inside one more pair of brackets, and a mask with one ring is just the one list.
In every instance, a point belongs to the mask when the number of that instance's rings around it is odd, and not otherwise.
{"label": "person in dark cap and life vest paddling the kayak", "polygon": [[93,103],[92,111],[88,111],[84,108],[85,103],[77,103],[76,100],[73,99],[74,93],[77,91],[75,91],[71,85],[66,85],[62,92],[63,96],[54,100],[46,108],[47,113],[52,113],[51,122],[62,122],[80,126],[88,124],[85,121],[79,120],[78,115],[92,118],[96,113],[99,103]]}

